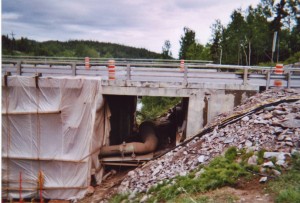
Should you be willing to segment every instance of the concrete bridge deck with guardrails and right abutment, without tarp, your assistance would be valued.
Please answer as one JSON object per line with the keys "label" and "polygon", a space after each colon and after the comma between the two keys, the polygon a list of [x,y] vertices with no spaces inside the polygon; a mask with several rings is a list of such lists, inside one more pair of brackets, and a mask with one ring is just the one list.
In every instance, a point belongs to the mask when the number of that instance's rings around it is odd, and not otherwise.
{"label": "concrete bridge deck with guardrails and right abutment, without tarp", "polygon": [[108,59],[3,58],[2,75],[42,77],[98,77],[105,95],[167,96],[188,98],[187,137],[197,133],[214,116],[233,109],[260,89],[300,87],[300,69],[217,65],[209,61],[133,60],[115,62],[115,80],[109,80]]}

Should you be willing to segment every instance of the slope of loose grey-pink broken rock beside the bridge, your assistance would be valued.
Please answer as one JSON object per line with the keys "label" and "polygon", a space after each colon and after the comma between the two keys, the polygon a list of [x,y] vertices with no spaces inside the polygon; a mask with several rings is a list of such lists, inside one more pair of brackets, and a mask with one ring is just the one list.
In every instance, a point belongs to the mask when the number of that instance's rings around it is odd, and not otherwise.
{"label": "slope of loose grey-pink broken rock beside the bridge", "polygon": [[[249,98],[235,111],[244,110],[270,98],[291,96],[299,98],[300,92],[296,90],[266,91]],[[222,117],[224,115],[215,121]],[[199,164],[206,164],[215,156],[222,154],[230,146],[252,151],[265,149],[269,153],[265,153],[266,159],[275,156],[276,164],[284,165],[283,156],[300,148],[300,100],[268,106],[224,128],[219,129],[217,126],[211,133],[200,138],[195,137],[186,145],[179,146],[159,159],[148,162],[144,167],[130,171],[121,183],[119,191],[145,192],[152,185],[165,179],[186,175]],[[256,164],[256,161],[257,157],[253,155],[249,158],[248,164]],[[271,164],[273,163],[266,162],[263,166],[272,168]]]}

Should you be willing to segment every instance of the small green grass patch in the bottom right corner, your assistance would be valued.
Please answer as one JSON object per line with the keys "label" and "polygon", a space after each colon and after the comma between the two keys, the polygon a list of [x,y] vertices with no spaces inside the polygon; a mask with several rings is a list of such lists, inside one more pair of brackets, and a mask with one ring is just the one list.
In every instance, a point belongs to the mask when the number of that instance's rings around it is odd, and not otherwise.
{"label": "small green grass patch in the bottom right corner", "polygon": [[300,202],[300,154],[292,157],[292,169],[270,182],[268,190],[275,195],[275,202]]}

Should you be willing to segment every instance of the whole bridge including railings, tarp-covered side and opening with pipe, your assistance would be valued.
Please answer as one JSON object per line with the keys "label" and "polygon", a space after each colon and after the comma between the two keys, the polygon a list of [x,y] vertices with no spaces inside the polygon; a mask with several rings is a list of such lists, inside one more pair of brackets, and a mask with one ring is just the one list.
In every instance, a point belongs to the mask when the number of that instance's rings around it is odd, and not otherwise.
{"label": "whole bridge including railings, tarp-covered side and opening with pipe", "polygon": [[[101,182],[107,165],[150,160],[158,149],[196,135],[214,116],[258,91],[299,88],[300,69],[3,57],[2,81],[4,196],[18,198],[22,182],[23,197],[75,199],[85,194],[91,175]],[[136,131],[137,98],[142,96],[182,101],[169,120]],[[140,140],[128,141],[134,133]]]}

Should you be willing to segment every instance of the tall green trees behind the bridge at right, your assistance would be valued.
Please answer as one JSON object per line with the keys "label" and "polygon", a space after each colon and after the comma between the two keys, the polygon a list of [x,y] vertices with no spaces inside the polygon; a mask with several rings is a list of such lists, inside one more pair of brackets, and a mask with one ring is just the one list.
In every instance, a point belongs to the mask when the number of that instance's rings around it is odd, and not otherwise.
{"label": "tall green trees behind the bridge at right", "polygon": [[[300,61],[299,0],[280,0],[279,3],[261,0],[256,7],[235,9],[230,17],[226,26],[221,20],[215,21],[211,26],[211,40],[206,45],[198,43],[195,31],[185,27],[180,38],[179,58],[235,65]],[[274,35],[277,40],[273,46]],[[165,58],[171,56],[167,54],[169,47],[167,40],[163,46]]]}

